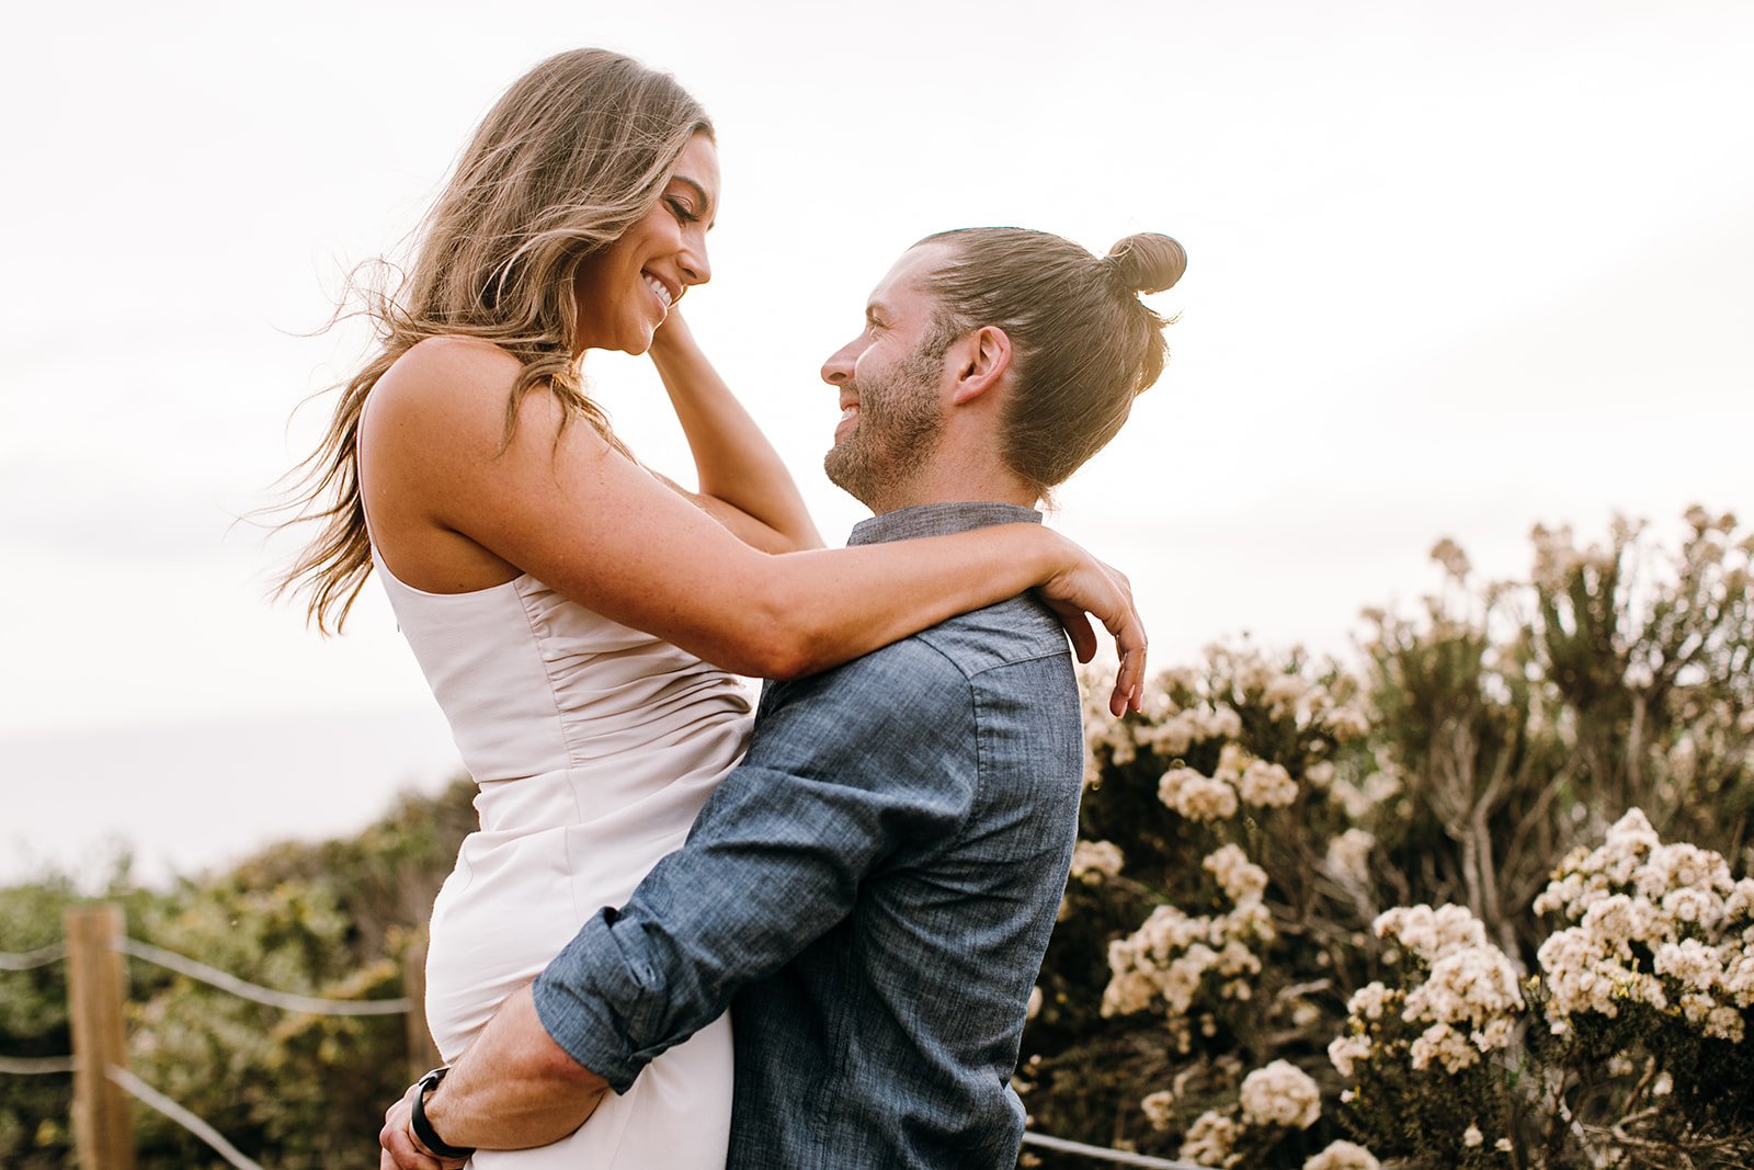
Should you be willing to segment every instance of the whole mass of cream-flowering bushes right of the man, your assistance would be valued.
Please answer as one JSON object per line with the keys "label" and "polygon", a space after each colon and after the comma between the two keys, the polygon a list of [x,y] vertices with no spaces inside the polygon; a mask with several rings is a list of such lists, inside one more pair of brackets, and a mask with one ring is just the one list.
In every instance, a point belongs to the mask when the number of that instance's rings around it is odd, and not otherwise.
{"label": "whole mass of cream-flowering bushes right of the man", "polygon": [[[1686,533],[1537,528],[1522,582],[1442,542],[1356,672],[1216,647],[1093,703],[1033,1124],[1265,1170],[1754,1165],[1754,537]],[[1312,1114],[1263,1107],[1284,1068]]]}

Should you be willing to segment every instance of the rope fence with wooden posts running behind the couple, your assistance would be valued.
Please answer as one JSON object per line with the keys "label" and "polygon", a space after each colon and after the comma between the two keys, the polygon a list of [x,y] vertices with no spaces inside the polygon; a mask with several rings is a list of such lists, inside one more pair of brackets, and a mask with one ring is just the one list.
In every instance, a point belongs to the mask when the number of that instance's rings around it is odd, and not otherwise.
{"label": "rope fence with wooden posts running behind the couple", "polygon": [[[414,1016],[419,996],[391,1000],[333,1000],[291,991],[277,991],[239,979],[186,954],[167,951],[123,933],[116,907],[82,907],[67,912],[67,940],[35,951],[0,951],[0,972],[26,972],[67,961],[68,1023],[74,1033],[72,1056],[0,1056],[0,1075],[74,1075],[74,1133],[79,1165],[88,1170],[133,1170],[133,1123],[126,1098],[140,1102],[205,1142],[237,1170],[261,1170],[223,1133],[177,1102],[170,1100],[126,1068],[123,1035],[125,981],[123,956],[186,975],[196,982],[254,1003],[310,1016]],[[419,963],[409,967],[409,979],[419,977]],[[409,984],[414,988],[414,984]],[[417,1023],[417,1019],[416,1019]],[[414,1065],[437,1063],[419,1051],[417,1038],[430,1037],[410,1023],[410,1058]],[[126,1095],[126,1096],[125,1096]],[[1200,1170],[1186,1161],[1168,1161],[1123,1149],[1084,1145],[1044,1133],[1024,1133],[1024,1145],[1073,1154],[1121,1166],[1154,1170]]]}

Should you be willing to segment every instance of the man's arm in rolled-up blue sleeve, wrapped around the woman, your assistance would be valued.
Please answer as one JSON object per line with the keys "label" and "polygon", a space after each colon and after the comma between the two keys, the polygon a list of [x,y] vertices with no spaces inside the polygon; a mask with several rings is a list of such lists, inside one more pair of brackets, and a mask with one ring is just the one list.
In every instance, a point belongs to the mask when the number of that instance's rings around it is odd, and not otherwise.
{"label": "man's arm in rolled-up blue sleeve, wrapped around the woman", "polygon": [[923,642],[775,684],[688,845],[500,1010],[426,1098],[433,1128],[489,1149],[570,1133],[845,917],[898,844],[952,837],[973,784],[968,682]]}

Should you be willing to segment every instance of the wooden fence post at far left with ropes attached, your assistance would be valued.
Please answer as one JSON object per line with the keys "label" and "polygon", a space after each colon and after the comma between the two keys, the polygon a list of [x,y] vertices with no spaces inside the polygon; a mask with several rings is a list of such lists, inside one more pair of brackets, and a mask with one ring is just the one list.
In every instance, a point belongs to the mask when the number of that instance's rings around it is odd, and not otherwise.
{"label": "wooden fence post at far left with ropes attached", "polygon": [[67,912],[67,1007],[74,1030],[74,1142],[81,1170],[133,1170],[133,1117],[128,1095],[111,1081],[126,1068],[123,1030],[121,909]]}

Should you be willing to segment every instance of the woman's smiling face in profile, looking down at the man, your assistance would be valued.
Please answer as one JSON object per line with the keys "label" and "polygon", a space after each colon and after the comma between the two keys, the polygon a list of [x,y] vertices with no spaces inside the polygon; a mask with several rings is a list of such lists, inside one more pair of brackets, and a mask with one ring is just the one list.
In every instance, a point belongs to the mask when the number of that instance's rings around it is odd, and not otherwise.
{"label": "woman's smiling face in profile, looking down at the man", "polygon": [[707,232],[719,210],[719,153],[696,133],[663,195],[626,235],[579,268],[579,349],[640,354],[670,305],[712,279]]}

